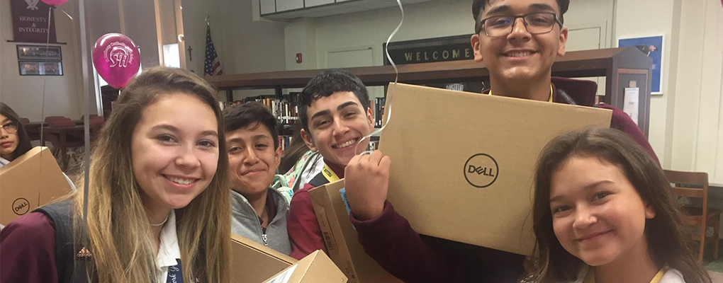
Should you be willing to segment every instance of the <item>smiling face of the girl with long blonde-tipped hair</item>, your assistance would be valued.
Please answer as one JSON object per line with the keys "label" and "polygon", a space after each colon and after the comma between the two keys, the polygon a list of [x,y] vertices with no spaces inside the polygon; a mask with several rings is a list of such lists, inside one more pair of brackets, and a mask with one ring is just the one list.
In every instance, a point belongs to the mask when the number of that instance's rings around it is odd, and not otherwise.
{"label": "smiling face of the girl with long blonde-tipped hair", "polygon": [[187,206],[208,187],[218,166],[213,109],[191,95],[163,95],[143,110],[133,130],[131,158],[147,209]]}

